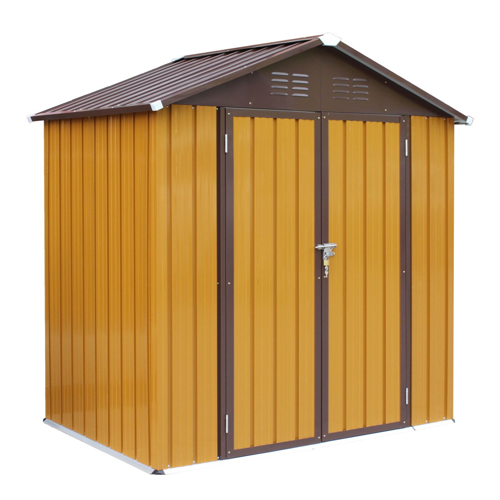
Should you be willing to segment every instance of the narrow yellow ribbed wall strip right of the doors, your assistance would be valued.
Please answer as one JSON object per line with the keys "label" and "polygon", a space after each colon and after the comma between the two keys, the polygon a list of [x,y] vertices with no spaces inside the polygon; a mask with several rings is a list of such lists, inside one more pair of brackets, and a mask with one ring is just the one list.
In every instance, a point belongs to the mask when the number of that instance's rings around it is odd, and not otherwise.
{"label": "narrow yellow ribbed wall strip right of the doors", "polygon": [[453,417],[453,118],[411,117],[411,424]]}

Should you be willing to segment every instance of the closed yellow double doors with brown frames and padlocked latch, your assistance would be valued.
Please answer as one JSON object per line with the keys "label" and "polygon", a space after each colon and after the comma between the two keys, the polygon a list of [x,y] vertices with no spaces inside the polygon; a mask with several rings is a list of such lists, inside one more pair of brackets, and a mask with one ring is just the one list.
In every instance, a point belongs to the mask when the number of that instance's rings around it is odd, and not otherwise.
{"label": "closed yellow double doors with brown frames and padlocked latch", "polygon": [[408,425],[404,117],[224,116],[221,453]]}

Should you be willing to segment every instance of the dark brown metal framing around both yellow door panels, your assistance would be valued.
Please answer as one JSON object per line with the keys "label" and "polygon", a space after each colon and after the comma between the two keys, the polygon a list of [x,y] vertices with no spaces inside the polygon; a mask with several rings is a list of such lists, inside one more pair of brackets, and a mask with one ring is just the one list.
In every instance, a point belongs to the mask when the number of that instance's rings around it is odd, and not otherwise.
{"label": "dark brown metal framing around both yellow door panels", "polygon": [[[268,445],[234,449],[232,434],[234,397],[233,295],[232,281],[234,247],[233,224],[233,155],[232,124],[227,116],[274,118],[311,117],[315,119],[315,234],[316,242],[328,240],[328,118],[338,120],[400,123],[400,420],[357,429],[328,432],[328,282],[319,280],[316,287],[315,317],[315,432],[312,438],[276,442]],[[217,114],[218,158],[218,458],[226,459],[267,451],[282,450],[346,437],[359,436],[410,426],[410,346],[411,346],[411,205],[410,205],[410,117],[312,111],[286,111],[219,107]],[[226,149],[227,147],[227,149]],[[319,216],[318,216],[319,215]],[[315,271],[322,272],[320,252]],[[318,274],[320,275],[320,274]],[[228,417],[228,420],[226,420]],[[228,424],[226,423],[228,422]],[[226,428],[227,425],[227,428]]]}

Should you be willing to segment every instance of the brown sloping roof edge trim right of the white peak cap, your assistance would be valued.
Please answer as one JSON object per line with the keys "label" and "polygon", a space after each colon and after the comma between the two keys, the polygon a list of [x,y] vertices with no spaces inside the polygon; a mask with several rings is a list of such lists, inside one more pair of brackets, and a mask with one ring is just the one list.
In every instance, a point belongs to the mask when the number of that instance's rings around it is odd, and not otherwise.
{"label": "brown sloping roof edge trim right of the white peak cap", "polygon": [[409,92],[413,93],[420,99],[423,99],[427,101],[429,104],[432,104],[433,106],[441,109],[441,111],[444,111],[446,114],[451,115],[455,119],[455,124],[467,124],[467,116],[465,114],[460,113],[456,109],[453,109],[451,106],[448,106],[441,100],[437,99],[436,97],[430,95],[429,93],[425,92],[421,88],[418,88],[416,85],[413,85],[410,83],[408,80],[405,80],[404,78],[401,78],[399,75],[393,73],[386,67],[381,66],[374,60],[370,59],[369,57],[366,57],[362,53],[358,52],[357,50],[354,50],[352,47],[349,45],[346,45],[342,41],[338,42],[338,44],[335,46],[337,50],[340,50],[344,54],[352,57],[356,61],[360,62],[361,64],[364,64],[365,66],[369,67],[373,71],[376,71],[378,74],[381,74],[383,77],[393,81],[394,83],[397,83],[401,87],[403,87],[405,90],[408,90]]}

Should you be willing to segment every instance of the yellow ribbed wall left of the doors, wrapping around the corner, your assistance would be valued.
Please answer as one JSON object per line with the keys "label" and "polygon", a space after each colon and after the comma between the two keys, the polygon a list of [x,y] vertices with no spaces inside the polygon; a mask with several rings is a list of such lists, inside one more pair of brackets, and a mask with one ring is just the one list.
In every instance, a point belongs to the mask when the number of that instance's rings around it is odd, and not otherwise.
{"label": "yellow ribbed wall left of the doors, wrapping around the corner", "polygon": [[46,417],[161,469],[217,458],[216,111],[45,122]]}

